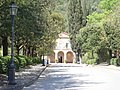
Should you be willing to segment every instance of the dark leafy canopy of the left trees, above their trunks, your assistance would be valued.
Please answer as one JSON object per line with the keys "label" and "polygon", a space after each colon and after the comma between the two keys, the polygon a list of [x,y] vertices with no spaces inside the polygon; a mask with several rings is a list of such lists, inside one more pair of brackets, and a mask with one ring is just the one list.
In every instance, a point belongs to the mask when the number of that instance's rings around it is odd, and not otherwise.
{"label": "dark leafy canopy of the left trees, above their trunks", "polygon": [[[11,17],[8,8],[10,2],[10,0],[0,2],[0,38],[7,37],[9,40],[11,40]],[[26,50],[28,47],[32,47],[36,53],[43,43],[47,49],[45,51],[51,51],[58,34],[64,29],[63,15],[56,12],[59,15],[53,17],[52,5],[54,2],[52,0],[14,0],[14,2],[19,7],[15,16],[17,55],[23,47]],[[59,2],[62,4],[61,1]]]}

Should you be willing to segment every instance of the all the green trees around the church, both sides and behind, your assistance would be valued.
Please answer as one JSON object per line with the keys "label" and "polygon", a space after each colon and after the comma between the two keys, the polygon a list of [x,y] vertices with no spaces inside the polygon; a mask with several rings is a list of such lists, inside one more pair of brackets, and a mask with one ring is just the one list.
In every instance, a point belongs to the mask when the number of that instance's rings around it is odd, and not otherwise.
{"label": "all the green trees around the church, both sides and behind", "polygon": [[[58,34],[66,31],[73,51],[81,50],[83,62],[114,61],[119,65],[119,0],[14,1],[19,7],[15,16],[15,56],[50,55]],[[0,0],[0,50],[6,57],[11,47],[10,2]]]}

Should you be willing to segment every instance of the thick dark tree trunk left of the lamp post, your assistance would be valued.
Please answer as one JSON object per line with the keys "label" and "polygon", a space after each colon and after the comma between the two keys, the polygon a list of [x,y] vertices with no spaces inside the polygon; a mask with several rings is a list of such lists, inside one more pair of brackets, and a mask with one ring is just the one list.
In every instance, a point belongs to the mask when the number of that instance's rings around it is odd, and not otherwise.
{"label": "thick dark tree trunk left of the lamp post", "polygon": [[8,37],[2,37],[2,45],[3,45],[3,56],[8,55]]}

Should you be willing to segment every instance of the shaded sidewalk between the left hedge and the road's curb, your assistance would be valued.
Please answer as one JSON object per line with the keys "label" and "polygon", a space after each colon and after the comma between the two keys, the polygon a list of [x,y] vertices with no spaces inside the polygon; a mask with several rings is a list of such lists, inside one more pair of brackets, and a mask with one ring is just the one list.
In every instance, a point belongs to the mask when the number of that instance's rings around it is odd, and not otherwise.
{"label": "shaded sidewalk between the left hedge and the road's curb", "polygon": [[24,86],[29,86],[34,83],[45,68],[46,66],[39,64],[15,72],[16,85],[8,85],[7,76],[0,75],[0,90],[21,90]]}

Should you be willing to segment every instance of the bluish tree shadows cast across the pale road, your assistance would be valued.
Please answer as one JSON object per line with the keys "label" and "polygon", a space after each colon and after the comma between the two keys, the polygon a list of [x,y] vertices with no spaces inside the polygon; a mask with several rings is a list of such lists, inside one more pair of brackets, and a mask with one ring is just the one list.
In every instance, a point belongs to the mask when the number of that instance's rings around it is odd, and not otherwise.
{"label": "bluish tree shadows cast across the pale road", "polygon": [[79,66],[60,65],[49,67],[47,70],[45,70],[45,72],[40,76],[34,85],[26,89],[32,90],[35,88],[35,90],[81,90],[88,88],[90,85],[103,83],[87,80],[86,78],[89,77],[89,74],[75,74],[74,72],[68,72],[69,67],[72,68]]}

